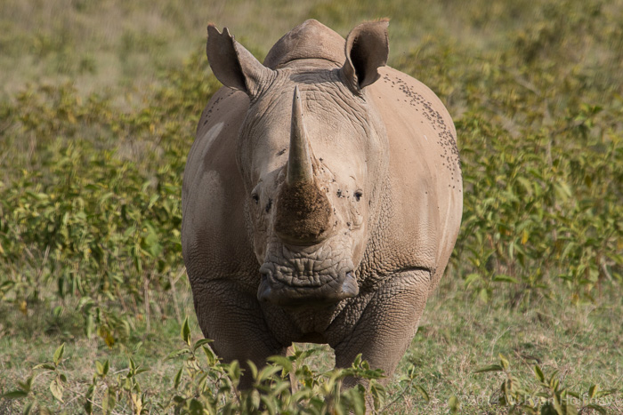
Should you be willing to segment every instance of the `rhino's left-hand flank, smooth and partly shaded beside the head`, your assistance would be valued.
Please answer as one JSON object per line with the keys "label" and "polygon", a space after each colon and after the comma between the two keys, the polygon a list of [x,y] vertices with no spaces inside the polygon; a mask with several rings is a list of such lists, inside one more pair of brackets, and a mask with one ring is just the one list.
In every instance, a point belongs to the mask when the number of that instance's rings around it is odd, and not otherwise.
{"label": "rhino's left-hand flank, smooth and partly shaded beside the head", "polygon": [[190,282],[240,275],[248,285],[257,268],[247,233],[245,189],[235,143],[248,98],[223,87],[208,102],[198,124],[182,185],[182,251]]}

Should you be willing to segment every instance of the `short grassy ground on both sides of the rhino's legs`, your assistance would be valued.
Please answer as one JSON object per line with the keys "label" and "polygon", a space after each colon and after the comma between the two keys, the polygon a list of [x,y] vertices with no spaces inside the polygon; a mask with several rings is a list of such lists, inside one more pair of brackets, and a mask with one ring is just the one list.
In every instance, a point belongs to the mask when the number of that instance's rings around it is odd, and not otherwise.
{"label": "short grassy ground on both sides of the rhino's legs", "polygon": [[[595,304],[573,307],[561,296],[523,309],[508,307],[503,292],[497,292],[495,299],[483,304],[465,299],[460,288],[459,282],[447,278],[430,299],[417,336],[389,388],[388,403],[394,399],[395,403],[387,411],[447,413],[449,398],[454,395],[461,404],[459,413],[506,413],[503,406],[495,403],[499,386],[506,379],[504,375],[474,373],[490,363],[498,363],[498,354],[508,358],[513,375],[528,386],[538,383],[532,372],[538,364],[546,375],[560,371],[562,385],[578,393],[587,393],[594,384],[619,390],[623,387],[623,299],[618,291],[604,291]],[[182,313],[190,315],[193,338],[199,339],[188,287],[181,291],[178,301]],[[172,299],[166,296],[161,300]],[[62,407],[69,413],[81,411],[86,386],[95,372],[95,360],[108,359],[111,372],[124,374],[128,356],[150,368],[140,376],[142,390],[152,401],[162,402],[162,396],[157,394],[173,390],[175,372],[182,364],[181,359],[166,360],[171,350],[182,345],[181,323],[174,310],[169,309],[171,315],[164,319],[154,316],[149,332],[144,322],[137,323],[130,339],[110,349],[101,339],[85,339],[84,329],[71,316],[71,306],[68,304],[65,315],[56,320],[46,309],[53,304],[41,305],[28,316],[16,314],[6,305],[0,308],[0,321],[4,322],[0,391],[12,390],[18,381],[28,377],[35,364],[52,360],[54,350],[65,342],[63,371],[70,379],[66,403],[52,402],[47,391],[51,376],[42,375],[36,381],[36,391],[53,407]],[[321,348],[323,351],[312,360],[312,367],[327,371],[333,355],[328,347]],[[428,403],[417,391],[398,382],[411,364],[417,369],[415,383],[430,396]],[[608,413],[623,411],[620,395],[604,397],[602,403]],[[17,401],[5,401],[0,403],[0,410],[4,408],[0,413],[12,413],[20,407]]]}

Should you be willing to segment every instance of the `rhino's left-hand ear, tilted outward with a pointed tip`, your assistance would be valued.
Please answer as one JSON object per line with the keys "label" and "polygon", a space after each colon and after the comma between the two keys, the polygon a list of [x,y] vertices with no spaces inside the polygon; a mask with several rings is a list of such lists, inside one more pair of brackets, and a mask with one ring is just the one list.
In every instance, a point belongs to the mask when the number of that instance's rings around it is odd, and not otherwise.
{"label": "rhino's left-hand ear, tilted outward with a pointed tip", "polygon": [[263,92],[263,87],[270,84],[274,76],[274,71],[264,67],[236,42],[227,28],[220,33],[214,25],[208,25],[206,55],[216,79],[225,86],[246,92],[251,100]]}

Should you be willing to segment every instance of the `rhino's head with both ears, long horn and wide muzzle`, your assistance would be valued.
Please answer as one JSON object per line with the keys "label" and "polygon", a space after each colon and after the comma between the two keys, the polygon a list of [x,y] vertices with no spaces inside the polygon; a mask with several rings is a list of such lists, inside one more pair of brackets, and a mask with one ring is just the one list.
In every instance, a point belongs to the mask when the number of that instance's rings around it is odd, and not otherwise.
{"label": "rhino's head with both ears, long horn and wide muzzle", "polygon": [[227,28],[208,27],[207,56],[223,84],[249,97],[236,151],[260,263],[258,299],[336,303],[359,293],[357,270],[386,182],[386,133],[366,87],[387,60],[387,21],[354,28],[343,64],[305,56],[323,39],[292,33],[303,55],[279,68],[255,60]]}

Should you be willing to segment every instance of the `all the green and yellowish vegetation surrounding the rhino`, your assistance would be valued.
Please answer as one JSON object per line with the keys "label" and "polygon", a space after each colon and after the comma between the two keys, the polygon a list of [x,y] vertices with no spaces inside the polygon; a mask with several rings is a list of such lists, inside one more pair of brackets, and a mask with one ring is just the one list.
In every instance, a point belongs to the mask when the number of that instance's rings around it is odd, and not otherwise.
{"label": "all the green and yellowish vegetation surrounding the rhino", "polygon": [[[241,394],[182,267],[206,24],[262,60],[305,19],[381,17],[457,125],[451,264],[386,390],[299,345]],[[4,0],[0,414],[623,413],[622,62],[620,0]]]}

